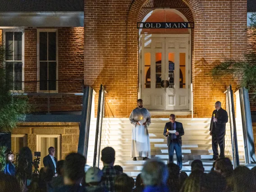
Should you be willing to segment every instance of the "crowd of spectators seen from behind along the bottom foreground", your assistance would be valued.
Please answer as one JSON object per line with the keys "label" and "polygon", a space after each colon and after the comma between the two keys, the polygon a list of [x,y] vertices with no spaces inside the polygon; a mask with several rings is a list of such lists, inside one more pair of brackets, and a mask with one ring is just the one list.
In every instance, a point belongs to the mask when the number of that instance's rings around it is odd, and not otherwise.
{"label": "crowd of spectators seen from behind along the bottom foreground", "polygon": [[[52,148],[49,148],[49,154]],[[114,165],[115,151],[105,147],[101,151],[103,168],[85,171],[85,157],[70,153],[65,160],[32,174],[32,153],[28,147],[20,150],[18,167],[13,165],[13,153],[6,153],[6,166],[0,173],[0,192],[256,192],[256,167],[239,166],[233,170],[228,158],[213,163],[205,173],[201,160],[191,164],[191,174],[180,172],[174,163],[148,159],[136,182]]]}

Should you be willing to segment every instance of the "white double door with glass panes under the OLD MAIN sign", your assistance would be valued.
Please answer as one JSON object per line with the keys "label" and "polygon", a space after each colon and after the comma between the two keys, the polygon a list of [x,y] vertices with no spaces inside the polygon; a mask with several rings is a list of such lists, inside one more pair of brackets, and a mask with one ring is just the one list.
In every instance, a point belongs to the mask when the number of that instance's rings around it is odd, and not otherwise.
{"label": "white double door with glass panes under the OLD MAIN sign", "polygon": [[141,98],[149,110],[189,110],[189,35],[140,38]]}

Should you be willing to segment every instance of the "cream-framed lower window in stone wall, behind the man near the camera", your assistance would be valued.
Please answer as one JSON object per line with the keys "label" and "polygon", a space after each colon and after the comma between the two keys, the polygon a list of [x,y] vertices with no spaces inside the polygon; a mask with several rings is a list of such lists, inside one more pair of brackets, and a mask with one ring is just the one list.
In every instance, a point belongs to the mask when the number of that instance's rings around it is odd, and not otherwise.
{"label": "cream-framed lower window in stone wall, behind the man near the camera", "polygon": [[49,154],[48,149],[50,146],[55,148],[55,157],[57,160],[61,160],[60,145],[60,135],[37,135],[37,151],[41,151],[40,167],[44,167],[42,159]]}

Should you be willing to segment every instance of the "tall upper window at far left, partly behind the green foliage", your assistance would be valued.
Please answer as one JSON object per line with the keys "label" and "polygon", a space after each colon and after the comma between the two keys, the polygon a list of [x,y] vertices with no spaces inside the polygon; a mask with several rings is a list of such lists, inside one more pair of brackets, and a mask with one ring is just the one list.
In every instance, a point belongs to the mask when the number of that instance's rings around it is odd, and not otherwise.
{"label": "tall upper window at far left, partly behind the green foliage", "polygon": [[21,29],[5,29],[5,69],[9,90],[22,90],[24,81],[24,32]]}

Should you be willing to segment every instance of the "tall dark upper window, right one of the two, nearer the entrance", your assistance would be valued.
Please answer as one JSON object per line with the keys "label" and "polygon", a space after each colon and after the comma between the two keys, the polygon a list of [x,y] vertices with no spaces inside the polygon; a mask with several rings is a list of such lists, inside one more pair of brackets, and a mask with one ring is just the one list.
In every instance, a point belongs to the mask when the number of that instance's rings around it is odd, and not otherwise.
{"label": "tall dark upper window, right one of the two, nearer the entrance", "polygon": [[57,29],[37,30],[38,91],[57,91],[58,76]]}

